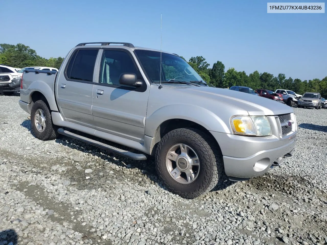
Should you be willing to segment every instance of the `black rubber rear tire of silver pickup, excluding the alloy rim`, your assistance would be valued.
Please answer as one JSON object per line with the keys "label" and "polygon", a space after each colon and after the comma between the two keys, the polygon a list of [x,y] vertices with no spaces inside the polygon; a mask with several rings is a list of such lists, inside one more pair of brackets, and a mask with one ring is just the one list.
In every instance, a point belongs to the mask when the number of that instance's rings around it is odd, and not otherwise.
{"label": "black rubber rear tire of silver pickup, excluding the alloy rim", "polygon": [[[35,125],[35,113],[38,109],[42,109],[45,115],[45,129],[43,132],[39,132]],[[52,140],[58,137],[57,127],[53,125],[51,112],[49,107],[43,100],[38,100],[34,103],[31,109],[31,125],[35,137],[41,140]]]}

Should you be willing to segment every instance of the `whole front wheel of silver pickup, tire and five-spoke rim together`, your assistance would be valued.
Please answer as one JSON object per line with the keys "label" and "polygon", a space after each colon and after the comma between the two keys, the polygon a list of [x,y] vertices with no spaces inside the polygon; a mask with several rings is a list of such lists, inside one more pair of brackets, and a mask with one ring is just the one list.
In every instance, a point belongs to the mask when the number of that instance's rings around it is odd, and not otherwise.
{"label": "whole front wheel of silver pickup, tire and five-spoke rim together", "polygon": [[159,142],[156,170],[167,189],[183,198],[196,198],[218,183],[222,155],[212,140],[193,128],[179,128]]}

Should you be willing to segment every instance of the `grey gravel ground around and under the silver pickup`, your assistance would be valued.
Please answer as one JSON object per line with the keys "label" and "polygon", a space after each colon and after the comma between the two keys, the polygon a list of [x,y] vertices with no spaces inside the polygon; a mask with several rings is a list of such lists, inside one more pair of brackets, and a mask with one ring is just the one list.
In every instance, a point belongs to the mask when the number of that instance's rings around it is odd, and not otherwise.
{"label": "grey gravel ground around and under the silver pickup", "polygon": [[327,244],[327,109],[294,108],[293,157],[193,200],[153,161],[31,134],[19,96],[0,96],[0,245]]}

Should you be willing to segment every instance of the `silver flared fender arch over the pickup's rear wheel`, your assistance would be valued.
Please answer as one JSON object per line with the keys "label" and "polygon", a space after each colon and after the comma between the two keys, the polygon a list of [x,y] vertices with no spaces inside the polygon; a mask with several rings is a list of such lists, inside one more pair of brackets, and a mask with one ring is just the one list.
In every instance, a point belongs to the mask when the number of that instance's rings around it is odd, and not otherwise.
{"label": "silver flared fender arch over the pickup's rear wheel", "polygon": [[32,82],[28,86],[28,89],[26,90],[26,93],[30,95],[28,103],[32,102],[32,94],[35,91],[38,91],[38,92],[43,94],[43,96],[47,100],[47,102],[48,102],[48,104],[50,106],[50,109],[52,111],[59,111],[58,107],[57,107],[57,104],[56,104],[55,94],[53,92],[53,88],[51,88],[48,84],[46,84],[43,81],[34,81],[34,82]]}

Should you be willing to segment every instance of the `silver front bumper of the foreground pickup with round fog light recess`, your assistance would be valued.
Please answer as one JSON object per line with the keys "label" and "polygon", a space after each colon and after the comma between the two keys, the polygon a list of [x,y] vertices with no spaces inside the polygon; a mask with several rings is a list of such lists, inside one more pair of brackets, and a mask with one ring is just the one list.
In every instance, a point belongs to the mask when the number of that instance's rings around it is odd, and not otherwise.
{"label": "silver front bumper of the foreground pickup with round fog light recess", "polygon": [[296,144],[296,132],[283,139],[211,133],[220,145],[226,175],[236,178],[263,175],[274,162],[282,163],[284,155],[292,152]]}

